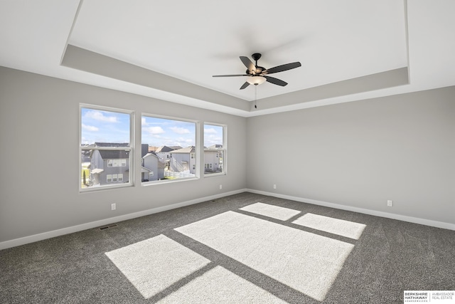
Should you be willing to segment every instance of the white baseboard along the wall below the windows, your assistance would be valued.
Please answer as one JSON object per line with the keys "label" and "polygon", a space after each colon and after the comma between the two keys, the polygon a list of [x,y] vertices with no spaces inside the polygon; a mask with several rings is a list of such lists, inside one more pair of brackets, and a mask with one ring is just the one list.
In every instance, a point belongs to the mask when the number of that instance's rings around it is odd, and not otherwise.
{"label": "white baseboard along the wall below the windows", "polygon": [[167,205],[167,206],[156,207],[156,208],[153,208],[153,209],[148,209],[148,210],[139,211],[139,212],[134,212],[132,214],[124,214],[124,215],[121,215],[121,216],[114,216],[114,217],[110,217],[108,219],[101,219],[100,221],[92,221],[90,223],[85,223],[85,224],[80,224],[80,225],[76,225],[76,226],[66,227],[66,228],[63,228],[63,229],[57,229],[57,230],[53,230],[53,231],[43,232],[41,234],[34,234],[33,236],[24,236],[23,238],[19,238],[19,239],[14,239],[14,240],[10,240],[10,241],[3,241],[3,242],[0,242],[0,250],[6,249],[6,248],[11,248],[11,247],[25,245],[26,243],[33,243],[33,242],[36,242],[36,241],[43,241],[45,239],[50,239],[50,238],[53,238],[55,236],[63,236],[65,234],[73,234],[74,232],[87,230],[87,229],[92,229],[92,228],[96,228],[96,227],[99,227],[99,226],[105,226],[105,225],[108,225],[108,224],[117,223],[119,221],[126,221],[128,219],[135,219],[137,217],[146,216],[146,215],[149,215],[149,214],[156,214],[156,213],[159,213],[159,212],[162,212],[162,211],[168,211],[168,210],[180,208],[180,207],[183,207],[183,206],[189,206],[189,205],[193,205],[193,204],[198,204],[198,203],[202,203],[203,201],[210,201],[212,199],[219,199],[220,197],[230,196],[230,195],[233,195],[233,194],[239,194],[239,193],[246,192],[246,191],[247,191],[246,189],[240,189],[240,190],[235,190],[235,191],[231,191],[231,192],[224,192],[224,193],[221,193],[221,194],[215,194],[215,195],[211,195],[211,196],[201,197],[199,199],[192,199],[191,201],[182,201],[180,203],[171,204],[171,205]]}

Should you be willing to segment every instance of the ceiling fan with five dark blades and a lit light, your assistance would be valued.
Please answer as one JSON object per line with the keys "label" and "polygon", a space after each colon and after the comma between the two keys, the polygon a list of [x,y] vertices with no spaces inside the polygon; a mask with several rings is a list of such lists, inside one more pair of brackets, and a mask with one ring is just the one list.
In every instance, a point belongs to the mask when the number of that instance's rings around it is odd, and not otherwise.
{"label": "ceiling fan with five dark blades and a lit light", "polygon": [[213,77],[249,76],[247,78],[247,81],[240,87],[240,90],[247,88],[248,85],[260,85],[266,81],[269,83],[273,83],[274,85],[281,85],[282,87],[284,87],[284,85],[287,85],[287,82],[267,75],[272,73],[279,73],[284,70],[291,70],[292,68],[299,68],[299,66],[301,66],[301,63],[297,61],[293,63],[287,63],[284,65],[278,65],[275,66],[274,68],[263,68],[262,66],[257,65],[257,61],[259,60],[259,58],[261,58],[261,54],[254,53],[252,54],[251,57],[253,58],[254,61],[256,61],[256,64],[253,64],[252,61],[250,61],[250,58],[240,56],[240,60],[247,67],[245,74],[213,75]]}

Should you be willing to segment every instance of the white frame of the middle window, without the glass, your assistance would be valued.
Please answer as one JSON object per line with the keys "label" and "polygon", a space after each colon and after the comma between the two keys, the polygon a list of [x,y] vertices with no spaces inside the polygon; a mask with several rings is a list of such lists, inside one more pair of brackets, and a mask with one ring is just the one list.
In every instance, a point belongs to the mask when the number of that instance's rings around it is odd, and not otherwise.
{"label": "white frame of the middle window, without the glass", "polygon": [[[150,112],[141,112],[141,120],[142,120],[142,117],[152,117],[152,118],[160,118],[160,119],[164,119],[164,120],[177,120],[177,121],[181,121],[181,122],[191,122],[191,123],[194,123],[195,124],[195,145],[194,147],[196,148],[196,152],[194,153],[194,157],[195,157],[195,163],[196,163],[196,172],[195,172],[195,176],[194,177],[182,177],[182,178],[178,178],[178,179],[161,179],[161,180],[157,180],[157,181],[149,181],[149,182],[141,182],[141,186],[150,186],[150,185],[155,185],[155,184],[165,184],[165,183],[173,183],[173,182],[186,182],[186,181],[190,181],[190,180],[194,180],[194,179],[200,179],[200,146],[203,146],[203,144],[201,143],[201,140],[200,140],[200,128],[201,128],[201,123],[200,121],[198,120],[188,120],[186,118],[181,118],[181,117],[172,117],[172,116],[164,116],[164,115],[156,115],[156,114],[153,114],[153,113],[150,113]],[[141,144],[143,143],[142,142],[142,127],[141,127]],[[146,144],[146,142],[144,142],[144,144]],[[170,152],[168,154],[168,159],[172,159],[172,152]],[[190,159],[191,159],[191,154],[190,154]]]}

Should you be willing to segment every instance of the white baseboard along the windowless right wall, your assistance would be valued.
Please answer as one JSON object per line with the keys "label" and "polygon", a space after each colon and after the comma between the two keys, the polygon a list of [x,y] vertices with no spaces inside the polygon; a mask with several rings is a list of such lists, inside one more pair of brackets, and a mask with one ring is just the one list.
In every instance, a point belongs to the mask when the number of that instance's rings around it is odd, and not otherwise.
{"label": "white baseboard along the windowless right wall", "polygon": [[363,209],[363,208],[358,208],[358,207],[353,207],[353,206],[328,203],[327,201],[316,201],[315,199],[304,199],[304,198],[298,197],[298,196],[290,196],[290,195],[285,195],[285,194],[265,192],[265,191],[255,190],[255,189],[246,189],[246,191],[255,193],[255,194],[274,196],[274,197],[278,197],[279,199],[290,199],[291,201],[300,201],[302,203],[326,206],[326,207],[331,207],[334,209],[353,211],[353,212],[358,212],[361,214],[368,214],[368,215],[373,215],[373,216],[381,216],[381,217],[385,217],[387,219],[397,219],[399,221],[408,221],[408,222],[414,223],[414,224],[427,225],[427,226],[432,226],[432,227],[437,227],[437,228],[442,228],[442,229],[449,229],[449,230],[455,231],[455,224],[445,223],[443,221],[432,221],[429,219],[419,219],[417,217],[412,217],[412,216],[392,214],[392,213],[388,213],[388,212],[375,211],[375,210]]}

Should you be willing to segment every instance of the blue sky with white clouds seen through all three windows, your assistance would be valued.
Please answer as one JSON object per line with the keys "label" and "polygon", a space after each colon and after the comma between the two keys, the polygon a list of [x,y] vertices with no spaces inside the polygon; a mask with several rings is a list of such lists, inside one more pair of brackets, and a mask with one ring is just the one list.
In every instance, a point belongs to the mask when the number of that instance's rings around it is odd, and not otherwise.
{"label": "blue sky with white clouds seen through all three windows", "polygon": [[[151,146],[196,145],[196,124],[156,117],[141,117],[142,143]],[[129,142],[129,114],[82,108],[81,143]],[[204,146],[223,144],[223,127],[204,126]]]}

